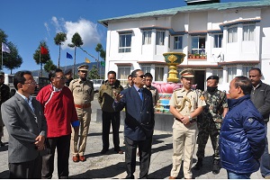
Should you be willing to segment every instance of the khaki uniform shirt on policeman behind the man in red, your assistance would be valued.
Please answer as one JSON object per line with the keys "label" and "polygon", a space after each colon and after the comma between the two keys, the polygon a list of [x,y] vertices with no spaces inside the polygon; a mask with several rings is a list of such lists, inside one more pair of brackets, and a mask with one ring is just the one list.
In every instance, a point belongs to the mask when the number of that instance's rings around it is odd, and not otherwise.
{"label": "khaki uniform shirt on policeman behind the man in red", "polygon": [[93,82],[88,79],[86,81],[80,78],[72,80],[69,89],[73,94],[75,104],[85,105],[94,100]]}

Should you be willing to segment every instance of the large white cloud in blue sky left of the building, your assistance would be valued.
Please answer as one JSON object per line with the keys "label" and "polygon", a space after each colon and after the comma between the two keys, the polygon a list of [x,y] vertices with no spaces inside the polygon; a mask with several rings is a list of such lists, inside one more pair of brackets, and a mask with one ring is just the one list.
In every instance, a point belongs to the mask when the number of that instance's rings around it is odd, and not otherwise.
{"label": "large white cloud in blue sky left of the building", "polygon": [[55,16],[53,16],[51,20],[57,32],[64,30],[64,32],[67,33],[67,40],[63,44],[62,49],[69,48],[67,44],[72,43],[72,37],[76,32],[79,33],[84,42],[83,48],[95,46],[97,43],[101,42],[102,35],[98,32],[96,23],[92,23],[83,18],[77,22],[66,22],[63,18],[58,20]]}

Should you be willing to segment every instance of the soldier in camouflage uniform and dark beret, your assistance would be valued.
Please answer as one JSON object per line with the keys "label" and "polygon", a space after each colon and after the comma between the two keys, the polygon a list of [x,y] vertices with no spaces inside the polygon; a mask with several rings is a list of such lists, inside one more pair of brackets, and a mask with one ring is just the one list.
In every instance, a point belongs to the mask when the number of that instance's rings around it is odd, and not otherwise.
{"label": "soldier in camouflage uniform and dark beret", "polygon": [[222,117],[228,112],[226,92],[218,90],[219,76],[209,76],[207,78],[207,90],[202,92],[206,106],[198,117],[198,162],[194,166],[195,170],[202,167],[202,158],[207,140],[210,136],[211,145],[214,151],[212,173],[217,175],[220,173],[220,153],[219,139]]}

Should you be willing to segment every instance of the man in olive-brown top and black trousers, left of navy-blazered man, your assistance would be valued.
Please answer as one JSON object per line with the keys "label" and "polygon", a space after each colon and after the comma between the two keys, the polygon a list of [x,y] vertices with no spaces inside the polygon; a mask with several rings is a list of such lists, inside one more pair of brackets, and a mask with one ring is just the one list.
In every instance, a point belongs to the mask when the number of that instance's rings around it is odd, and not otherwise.
{"label": "man in olive-brown top and black trousers, left of navy-blazered man", "polygon": [[101,154],[105,154],[109,149],[111,123],[114,151],[122,154],[123,152],[119,147],[120,111],[114,111],[112,103],[115,98],[114,93],[119,94],[123,87],[120,85],[120,81],[116,80],[116,73],[114,71],[109,71],[107,76],[108,80],[106,80],[104,85],[101,85],[98,94],[98,102],[103,111],[103,149]]}

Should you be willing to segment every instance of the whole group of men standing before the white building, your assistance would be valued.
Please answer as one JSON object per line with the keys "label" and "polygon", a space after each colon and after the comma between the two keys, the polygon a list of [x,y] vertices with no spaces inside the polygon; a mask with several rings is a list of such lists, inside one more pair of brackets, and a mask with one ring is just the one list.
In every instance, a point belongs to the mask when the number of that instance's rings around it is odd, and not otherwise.
{"label": "whole group of men standing before the white building", "polygon": [[[56,148],[58,178],[68,178],[70,147],[74,162],[86,160],[86,138],[94,100],[94,87],[86,78],[87,71],[87,65],[78,67],[77,79],[68,76],[71,70],[49,72],[50,85],[40,90],[36,100],[31,97],[36,85],[31,72],[19,71],[14,75],[17,92],[5,103],[1,101],[4,125],[10,137],[10,178],[51,178]],[[248,75],[249,78],[237,76],[230,82],[227,99],[226,92],[218,90],[219,76],[209,76],[207,89],[200,91],[192,89],[193,69],[180,72],[183,87],[174,91],[169,102],[170,112],[175,116],[170,179],[177,178],[183,157],[184,178],[193,178],[195,144],[198,143],[198,161],[194,169],[200,170],[209,137],[214,151],[213,174],[220,173],[221,164],[229,178],[249,178],[260,166],[262,175],[270,177],[266,138],[270,86],[262,83],[259,68],[250,69]],[[109,71],[107,78],[98,94],[103,111],[101,153],[109,150],[112,124],[113,150],[123,154],[119,128],[120,112],[124,109],[126,178],[134,178],[137,148],[139,178],[147,178],[155,125],[154,106],[158,100],[157,89],[151,85],[153,76],[136,69],[130,74],[126,89],[116,79],[114,71]]]}

